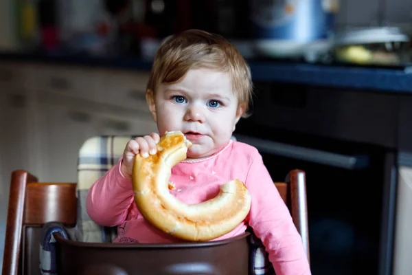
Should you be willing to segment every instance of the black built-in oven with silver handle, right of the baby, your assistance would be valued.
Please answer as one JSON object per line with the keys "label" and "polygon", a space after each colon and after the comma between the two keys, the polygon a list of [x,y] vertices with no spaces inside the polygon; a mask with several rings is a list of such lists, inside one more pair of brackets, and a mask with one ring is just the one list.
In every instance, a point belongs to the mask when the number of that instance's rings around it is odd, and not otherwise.
{"label": "black built-in oven with silver handle, right of the baby", "polygon": [[396,96],[293,83],[255,93],[235,136],[258,148],[273,181],[305,170],[312,274],[391,274]]}

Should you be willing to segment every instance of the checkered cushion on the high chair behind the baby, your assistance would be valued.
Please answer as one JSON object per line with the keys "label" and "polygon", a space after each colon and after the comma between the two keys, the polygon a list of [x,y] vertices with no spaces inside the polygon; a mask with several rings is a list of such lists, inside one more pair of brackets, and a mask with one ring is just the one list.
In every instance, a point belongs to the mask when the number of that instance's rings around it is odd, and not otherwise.
{"label": "checkered cushion on the high chair behind the baby", "polygon": [[[123,155],[126,143],[136,136],[97,136],[91,137],[80,148],[78,159],[78,241],[111,242],[115,239],[117,228],[106,228],[94,223],[86,212],[87,191],[91,185],[112,166],[117,164]],[[235,137],[232,137],[236,140]],[[267,259],[264,246],[252,234],[251,242],[251,274],[274,274],[273,267]]]}

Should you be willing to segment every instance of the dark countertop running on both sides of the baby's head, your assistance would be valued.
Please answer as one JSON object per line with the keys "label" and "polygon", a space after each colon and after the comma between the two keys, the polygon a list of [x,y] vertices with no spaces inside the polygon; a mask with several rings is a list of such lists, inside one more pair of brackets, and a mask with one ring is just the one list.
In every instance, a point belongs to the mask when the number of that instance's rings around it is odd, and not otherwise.
{"label": "dark countertop running on both sides of the baby's head", "polygon": [[[0,53],[1,61],[86,65],[150,70],[152,63],[137,57],[73,56],[68,54]],[[324,87],[412,94],[412,66],[361,67],[278,61],[248,61],[254,81],[299,83]]]}

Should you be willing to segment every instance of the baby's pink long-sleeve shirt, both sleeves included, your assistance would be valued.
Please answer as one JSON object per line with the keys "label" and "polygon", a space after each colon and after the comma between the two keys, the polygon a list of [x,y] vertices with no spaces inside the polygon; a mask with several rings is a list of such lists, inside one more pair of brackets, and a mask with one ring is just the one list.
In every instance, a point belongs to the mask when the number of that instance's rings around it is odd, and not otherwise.
{"label": "baby's pink long-sleeve shirt, both sleeves included", "polygon": [[[139,213],[132,182],[122,175],[121,163],[122,159],[89,189],[87,213],[91,219],[100,225],[118,226],[115,242],[179,242]],[[177,164],[170,177],[176,188],[170,192],[185,203],[200,203],[215,197],[220,185],[232,179],[243,181],[251,192],[251,210],[242,223],[218,239],[242,234],[250,225],[264,244],[276,274],[310,274],[301,236],[256,148],[231,140],[211,157]]]}

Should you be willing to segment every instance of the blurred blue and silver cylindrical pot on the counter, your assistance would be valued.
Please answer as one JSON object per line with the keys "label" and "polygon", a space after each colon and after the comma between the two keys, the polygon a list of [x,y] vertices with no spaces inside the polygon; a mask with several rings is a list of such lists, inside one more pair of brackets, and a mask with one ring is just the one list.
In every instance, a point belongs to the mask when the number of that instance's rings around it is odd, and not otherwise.
{"label": "blurred blue and silver cylindrical pot on the counter", "polygon": [[253,0],[251,21],[260,56],[298,58],[307,45],[328,48],[339,0]]}

